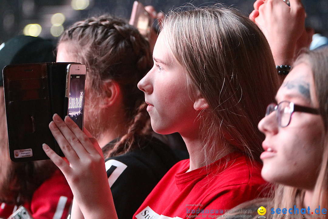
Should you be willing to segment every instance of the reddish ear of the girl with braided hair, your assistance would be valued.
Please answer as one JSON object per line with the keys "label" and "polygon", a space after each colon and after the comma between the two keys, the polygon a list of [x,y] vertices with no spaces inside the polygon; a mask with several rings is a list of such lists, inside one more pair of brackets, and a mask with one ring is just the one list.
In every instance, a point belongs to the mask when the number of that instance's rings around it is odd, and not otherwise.
{"label": "reddish ear of the girl with braided hair", "polygon": [[121,94],[119,84],[114,80],[106,81],[103,83],[102,89],[100,107],[106,108],[112,106],[119,99]]}

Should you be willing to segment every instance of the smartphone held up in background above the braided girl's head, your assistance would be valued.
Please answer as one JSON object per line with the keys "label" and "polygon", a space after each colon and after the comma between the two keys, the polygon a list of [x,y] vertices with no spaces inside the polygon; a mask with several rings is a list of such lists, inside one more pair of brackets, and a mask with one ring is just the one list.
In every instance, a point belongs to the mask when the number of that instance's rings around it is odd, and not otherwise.
{"label": "smartphone held up in background above the braided girl's head", "polygon": [[145,10],[145,7],[140,2],[134,1],[129,24],[136,27],[141,35],[147,39],[150,39],[151,27],[153,23],[154,19]]}

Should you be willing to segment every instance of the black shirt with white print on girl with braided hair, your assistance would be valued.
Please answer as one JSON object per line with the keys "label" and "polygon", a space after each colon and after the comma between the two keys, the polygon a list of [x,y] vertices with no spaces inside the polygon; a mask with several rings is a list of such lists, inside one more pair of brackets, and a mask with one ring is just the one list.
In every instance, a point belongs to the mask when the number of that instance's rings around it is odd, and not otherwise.
{"label": "black shirt with white print on girl with braided hair", "polygon": [[168,145],[155,137],[138,142],[140,146],[133,151],[105,161],[119,219],[132,218],[164,174],[181,160]]}

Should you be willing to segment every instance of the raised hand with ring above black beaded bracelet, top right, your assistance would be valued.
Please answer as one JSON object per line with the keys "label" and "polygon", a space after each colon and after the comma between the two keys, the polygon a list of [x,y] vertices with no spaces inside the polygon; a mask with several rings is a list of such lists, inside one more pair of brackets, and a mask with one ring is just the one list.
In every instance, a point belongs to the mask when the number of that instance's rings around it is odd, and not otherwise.
{"label": "raised hand with ring above black beaded bracelet, top right", "polygon": [[[291,65],[294,54],[308,45],[305,10],[301,0],[257,0],[250,19],[266,36],[277,65]],[[306,40],[306,42],[304,42]]]}

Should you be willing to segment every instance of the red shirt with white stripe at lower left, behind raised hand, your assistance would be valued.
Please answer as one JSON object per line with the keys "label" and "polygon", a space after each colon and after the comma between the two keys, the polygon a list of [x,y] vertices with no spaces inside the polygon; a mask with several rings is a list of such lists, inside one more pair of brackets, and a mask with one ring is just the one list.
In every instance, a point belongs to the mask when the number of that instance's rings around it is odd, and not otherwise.
{"label": "red shirt with white stripe at lower left, behind raised hand", "polygon": [[[33,193],[31,203],[25,203],[34,219],[65,219],[72,205],[73,194],[64,175],[56,170]],[[15,205],[0,204],[0,218],[8,218]]]}

